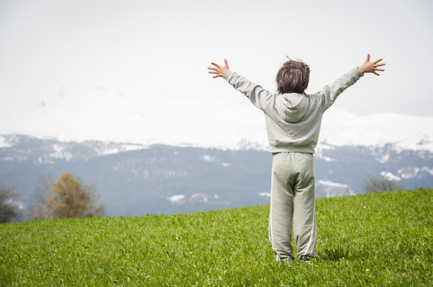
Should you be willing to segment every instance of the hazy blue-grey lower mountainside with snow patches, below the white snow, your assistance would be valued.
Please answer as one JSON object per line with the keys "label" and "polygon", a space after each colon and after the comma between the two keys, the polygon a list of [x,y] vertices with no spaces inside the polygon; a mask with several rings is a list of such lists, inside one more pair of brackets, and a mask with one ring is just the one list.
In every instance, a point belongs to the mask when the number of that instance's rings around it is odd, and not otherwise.
{"label": "hazy blue-grey lower mountainside with snow patches, below the white snow", "polygon": [[[108,216],[170,214],[267,204],[272,155],[108,141],[59,141],[0,135],[0,185],[29,204],[40,177],[72,172],[95,184]],[[248,147],[248,144],[245,145]],[[315,155],[317,197],[356,195],[380,175],[405,188],[433,186],[433,153],[382,146],[321,144]]]}

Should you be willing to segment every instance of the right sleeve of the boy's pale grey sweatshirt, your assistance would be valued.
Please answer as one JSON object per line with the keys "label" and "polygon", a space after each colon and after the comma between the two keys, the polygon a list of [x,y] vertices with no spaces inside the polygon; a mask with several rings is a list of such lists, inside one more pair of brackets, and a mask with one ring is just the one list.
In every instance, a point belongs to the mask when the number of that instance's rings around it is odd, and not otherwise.
{"label": "right sleeve of the boy's pale grey sweatshirt", "polygon": [[322,110],[325,111],[332,106],[338,96],[344,90],[356,83],[362,76],[363,74],[358,70],[358,68],[353,68],[329,85],[324,86],[322,91],[319,92],[321,96]]}

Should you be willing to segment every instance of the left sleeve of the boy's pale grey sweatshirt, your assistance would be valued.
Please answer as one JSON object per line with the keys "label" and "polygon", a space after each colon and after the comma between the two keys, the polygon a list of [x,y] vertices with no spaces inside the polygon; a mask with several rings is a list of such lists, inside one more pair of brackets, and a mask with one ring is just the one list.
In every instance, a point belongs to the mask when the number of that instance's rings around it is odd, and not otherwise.
{"label": "left sleeve of the boy's pale grey sweatshirt", "polygon": [[252,81],[242,77],[241,75],[237,75],[237,73],[232,72],[231,70],[227,70],[224,73],[223,78],[230,83],[236,90],[246,95],[248,99],[250,99],[251,103],[259,108],[260,110],[264,110],[268,104],[275,99],[275,94],[273,92],[269,92],[261,86],[252,83]]}

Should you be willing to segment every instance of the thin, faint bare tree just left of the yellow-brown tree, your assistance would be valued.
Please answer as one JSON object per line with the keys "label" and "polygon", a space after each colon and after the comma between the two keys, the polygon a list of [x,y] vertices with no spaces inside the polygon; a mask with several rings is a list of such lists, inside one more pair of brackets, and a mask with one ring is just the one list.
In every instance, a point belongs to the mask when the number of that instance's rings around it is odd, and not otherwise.
{"label": "thin, faint bare tree just left of the yellow-brown tree", "polygon": [[50,205],[50,198],[53,179],[40,177],[35,192],[30,198],[29,216],[30,219],[45,220],[53,218],[53,210]]}

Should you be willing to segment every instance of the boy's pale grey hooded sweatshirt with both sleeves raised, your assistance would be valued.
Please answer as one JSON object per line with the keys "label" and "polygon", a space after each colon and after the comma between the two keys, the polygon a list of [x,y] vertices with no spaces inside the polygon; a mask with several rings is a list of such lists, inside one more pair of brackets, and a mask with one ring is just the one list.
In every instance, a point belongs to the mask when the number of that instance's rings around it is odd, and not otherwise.
{"label": "boy's pale grey hooded sweatshirt with both sleeves raised", "polygon": [[311,95],[277,94],[227,70],[223,78],[263,110],[270,152],[314,153],[322,116],[344,90],[362,77],[358,68],[349,70],[320,92]]}

